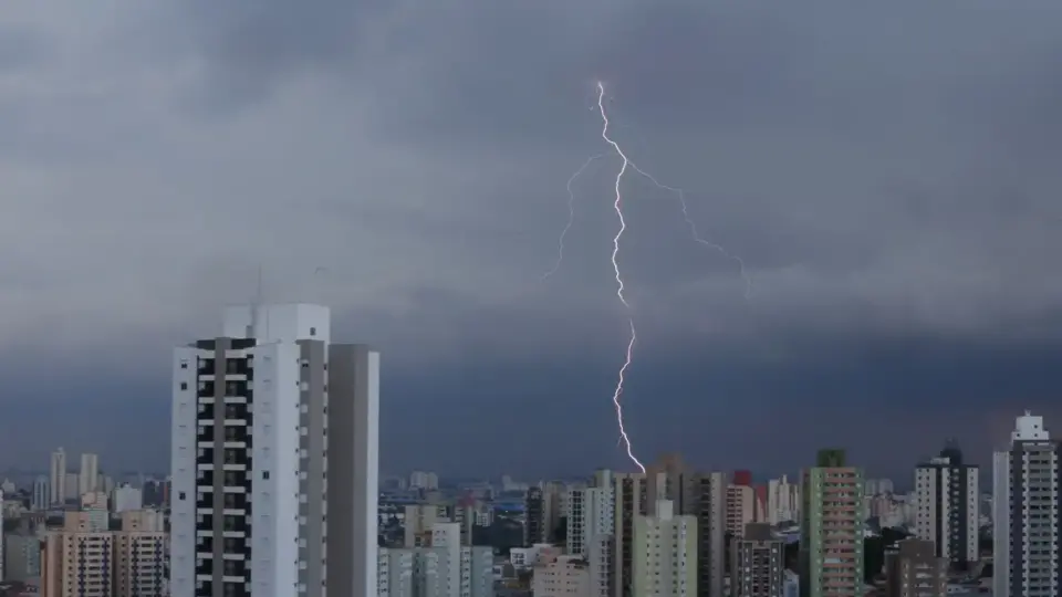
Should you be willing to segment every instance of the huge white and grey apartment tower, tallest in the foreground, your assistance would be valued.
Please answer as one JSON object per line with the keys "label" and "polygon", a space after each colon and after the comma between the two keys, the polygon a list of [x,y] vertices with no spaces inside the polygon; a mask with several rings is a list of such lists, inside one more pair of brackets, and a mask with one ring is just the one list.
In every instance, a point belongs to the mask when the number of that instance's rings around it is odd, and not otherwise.
{"label": "huge white and grey apartment tower, tallest in the foreground", "polygon": [[175,350],[173,597],[376,591],[379,354],[330,339],[326,307],[252,305]]}

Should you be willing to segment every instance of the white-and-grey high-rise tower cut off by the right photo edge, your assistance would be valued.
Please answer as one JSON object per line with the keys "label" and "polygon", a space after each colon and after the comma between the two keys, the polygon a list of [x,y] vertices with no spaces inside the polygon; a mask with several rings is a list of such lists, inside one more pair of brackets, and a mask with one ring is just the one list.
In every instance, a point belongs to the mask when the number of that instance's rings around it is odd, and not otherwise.
{"label": "white-and-grey high-rise tower cut off by the right photo edge", "polygon": [[992,463],[995,597],[1062,595],[1062,442],[1043,417],[1018,417]]}

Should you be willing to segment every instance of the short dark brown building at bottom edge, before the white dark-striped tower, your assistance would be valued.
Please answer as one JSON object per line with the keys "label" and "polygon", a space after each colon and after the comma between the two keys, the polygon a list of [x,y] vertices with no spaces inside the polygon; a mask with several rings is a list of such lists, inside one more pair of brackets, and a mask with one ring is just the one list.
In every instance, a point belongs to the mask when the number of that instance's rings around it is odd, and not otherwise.
{"label": "short dark brown building at bottom edge, before the white dark-striped tower", "polygon": [[948,558],[936,555],[931,541],[900,541],[885,553],[885,597],[945,597],[948,565]]}

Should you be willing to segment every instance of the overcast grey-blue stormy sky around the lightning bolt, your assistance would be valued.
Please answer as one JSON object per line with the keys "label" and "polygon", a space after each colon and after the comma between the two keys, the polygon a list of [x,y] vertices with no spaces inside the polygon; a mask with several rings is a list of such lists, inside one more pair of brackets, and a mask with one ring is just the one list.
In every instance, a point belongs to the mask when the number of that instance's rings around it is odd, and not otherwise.
{"label": "overcast grey-blue stormy sky around the lightning bolt", "polygon": [[[312,7],[311,7],[312,4]],[[9,2],[0,463],[168,467],[171,347],[333,306],[384,353],[382,468],[906,474],[1062,416],[1062,6]],[[1055,420],[1055,419],[1051,419]],[[1059,418],[1062,425],[1062,418]],[[1062,428],[1058,431],[1062,433]]]}

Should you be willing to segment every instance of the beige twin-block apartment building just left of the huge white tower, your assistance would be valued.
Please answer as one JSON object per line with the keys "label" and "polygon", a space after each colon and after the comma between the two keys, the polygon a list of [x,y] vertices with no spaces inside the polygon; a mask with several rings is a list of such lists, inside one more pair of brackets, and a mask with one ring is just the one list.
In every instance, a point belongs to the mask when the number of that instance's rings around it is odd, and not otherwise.
{"label": "beige twin-block apartment building just left of the huge white tower", "polygon": [[104,531],[96,513],[67,512],[41,552],[43,597],[162,597],[166,534],[158,513],[126,512],[122,531]]}

